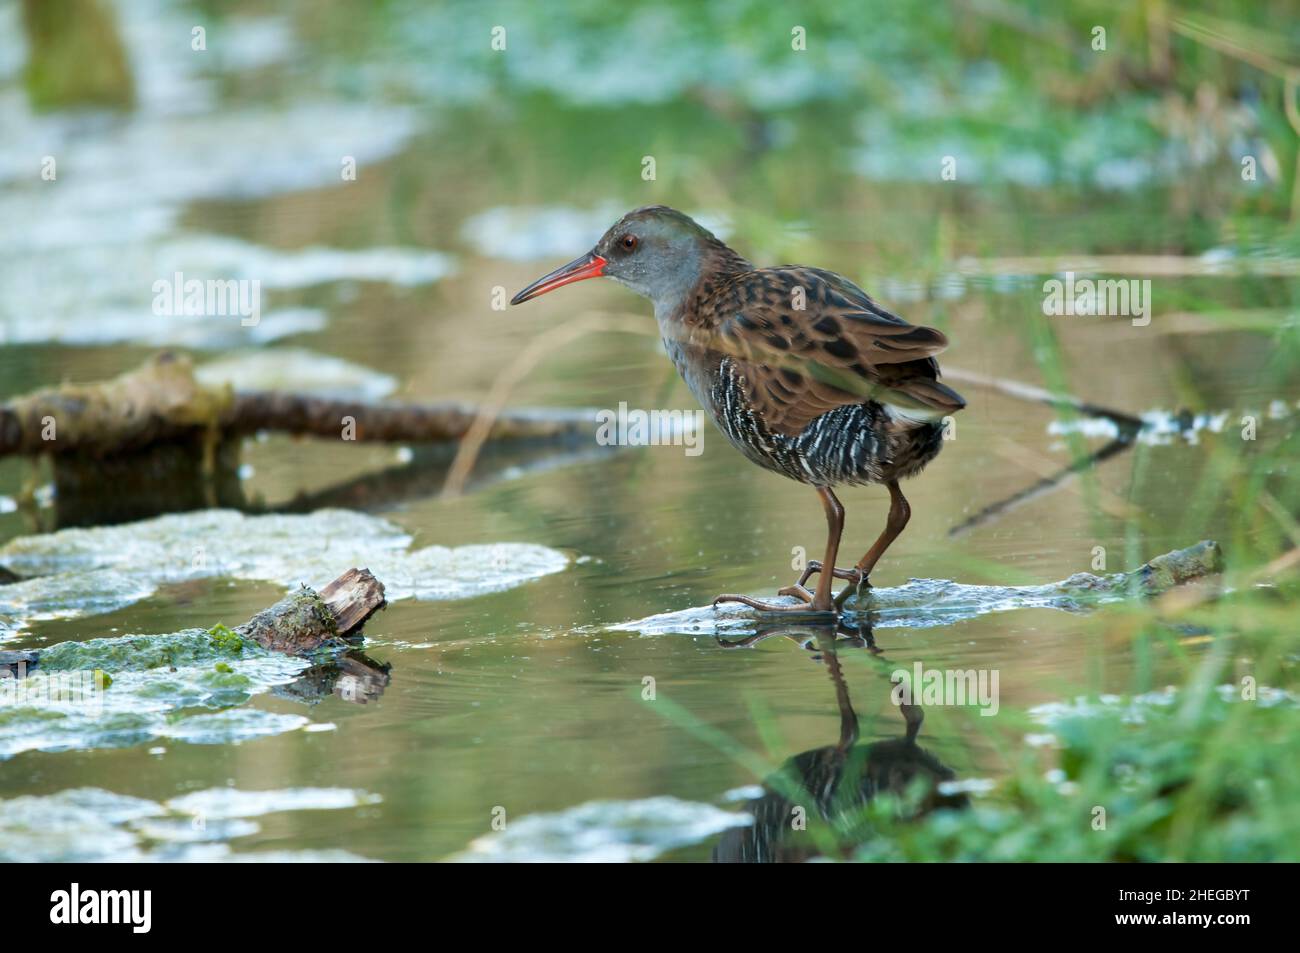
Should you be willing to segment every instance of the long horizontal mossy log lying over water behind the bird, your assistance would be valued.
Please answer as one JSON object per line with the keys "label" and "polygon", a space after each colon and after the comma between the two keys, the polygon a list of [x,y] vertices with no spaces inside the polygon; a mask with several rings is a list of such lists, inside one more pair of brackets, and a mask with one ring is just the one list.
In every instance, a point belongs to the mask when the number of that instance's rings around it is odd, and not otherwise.
{"label": "long horizontal mossy log lying over water behind the bird", "polygon": [[[463,403],[342,400],[281,391],[209,387],[187,358],[162,352],[99,384],[47,387],[0,404],[0,456],[105,458],[208,436],[263,430],[347,441],[458,441],[478,408]],[[497,415],[489,439],[556,439],[593,433],[582,410],[514,410]]]}

